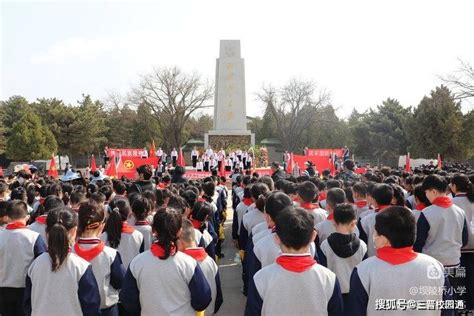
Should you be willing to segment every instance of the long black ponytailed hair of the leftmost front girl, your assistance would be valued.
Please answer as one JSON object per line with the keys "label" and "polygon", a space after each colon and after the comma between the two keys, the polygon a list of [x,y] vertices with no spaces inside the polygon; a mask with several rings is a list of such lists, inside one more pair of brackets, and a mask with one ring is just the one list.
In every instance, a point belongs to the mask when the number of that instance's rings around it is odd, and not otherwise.
{"label": "long black ponytailed hair of the leftmost front girl", "polygon": [[51,257],[51,271],[58,271],[69,253],[68,232],[76,227],[76,212],[62,206],[51,210],[46,219],[46,235],[48,236],[48,253]]}

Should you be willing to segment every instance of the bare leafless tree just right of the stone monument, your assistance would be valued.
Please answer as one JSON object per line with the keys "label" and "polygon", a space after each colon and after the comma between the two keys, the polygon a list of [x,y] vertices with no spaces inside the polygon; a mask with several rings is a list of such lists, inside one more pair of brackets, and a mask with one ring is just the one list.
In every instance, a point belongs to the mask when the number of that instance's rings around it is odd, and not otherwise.
{"label": "bare leafless tree just right of the stone monument", "polygon": [[317,89],[314,82],[296,79],[279,89],[264,86],[258,98],[270,110],[278,138],[289,151],[299,147],[304,131],[316,119],[317,110],[329,101],[329,95]]}

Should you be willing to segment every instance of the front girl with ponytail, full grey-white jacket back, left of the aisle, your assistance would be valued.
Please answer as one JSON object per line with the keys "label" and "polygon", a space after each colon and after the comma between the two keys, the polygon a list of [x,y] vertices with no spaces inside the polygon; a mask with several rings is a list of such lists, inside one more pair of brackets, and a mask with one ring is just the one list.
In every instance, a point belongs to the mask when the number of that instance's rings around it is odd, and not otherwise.
{"label": "front girl with ponytail, full grey-white jacket back, left of the aisle", "polygon": [[177,251],[181,226],[182,216],[173,209],[161,209],[153,217],[156,241],[132,260],[120,292],[127,312],[193,315],[210,304],[211,289],[198,263]]}

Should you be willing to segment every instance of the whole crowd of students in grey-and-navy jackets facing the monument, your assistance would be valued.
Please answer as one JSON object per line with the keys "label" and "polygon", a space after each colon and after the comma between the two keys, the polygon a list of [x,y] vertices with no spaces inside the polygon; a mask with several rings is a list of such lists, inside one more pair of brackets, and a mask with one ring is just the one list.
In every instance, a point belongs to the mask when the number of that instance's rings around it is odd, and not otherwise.
{"label": "whole crowd of students in grey-and-navy jackets facing the monument", "polygon": [[228,198],[245,315],[474,309],[469,169],[320,178],[273,166],[235,171],[229,187],[217,172],[155,178],[150,166],[136,181],[0,178],[0,314],[217,313]]}

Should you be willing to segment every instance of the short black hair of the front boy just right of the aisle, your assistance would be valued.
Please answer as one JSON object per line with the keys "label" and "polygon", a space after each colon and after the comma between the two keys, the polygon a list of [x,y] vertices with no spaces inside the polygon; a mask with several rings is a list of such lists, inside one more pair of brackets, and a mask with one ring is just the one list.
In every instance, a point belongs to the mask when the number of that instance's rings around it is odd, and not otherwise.
{"label": "short black hair of the front boy just right of the aisle", "polygon": [[275,218],[276,233],[286,247],[299,250],[312,242],[314,218],[306,210],[288,206]]}

